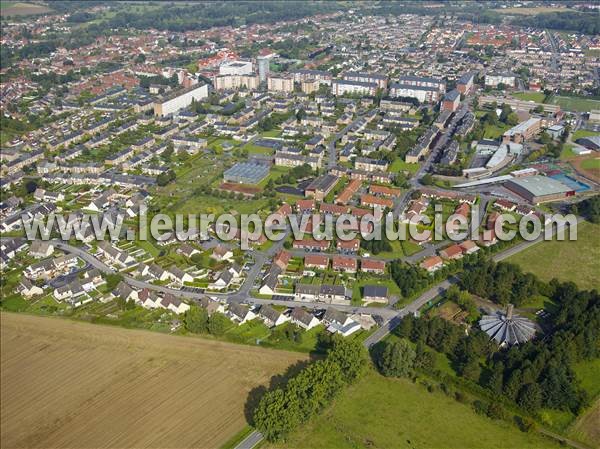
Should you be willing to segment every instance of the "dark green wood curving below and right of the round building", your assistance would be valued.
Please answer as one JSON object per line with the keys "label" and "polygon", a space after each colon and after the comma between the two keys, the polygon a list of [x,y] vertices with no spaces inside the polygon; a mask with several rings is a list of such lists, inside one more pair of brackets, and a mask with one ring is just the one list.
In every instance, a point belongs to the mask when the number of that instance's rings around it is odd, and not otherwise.
{"label": "dark green wood curving below and right of the round building", "polygon": [[[467,271],[463,277],[469,274]],[[519,280],[519,276],[513,278],[513,287]],[[446,354],[458,375],[483,389],[489,397],[501,396],[529,413],[546,407],[577,414],[589,405],[589,397],[576,380],[572,367],[579,361],[600,356],[600,295],[595,290],[580,291],[570,282],[533,281],[555,304],[548,310],[544,338],[496,351],[489,337],[478,329],[471,329],[466,335],[461,327],[439,317],[412,315],[402,320],[394,334],[416,343],[417,348],[427,345]],[[497,288],[489,282],[479,294],[491,297]],[[422,352],[422,347],[416,351]],[[399,360],[408,365],[394,368]],[[416,355],[413,357],[405,348],[380,348],[376,364],[384,374],[410,375],[419,367],[417,360]],[[445,377],[440,372],[437,375]]]}

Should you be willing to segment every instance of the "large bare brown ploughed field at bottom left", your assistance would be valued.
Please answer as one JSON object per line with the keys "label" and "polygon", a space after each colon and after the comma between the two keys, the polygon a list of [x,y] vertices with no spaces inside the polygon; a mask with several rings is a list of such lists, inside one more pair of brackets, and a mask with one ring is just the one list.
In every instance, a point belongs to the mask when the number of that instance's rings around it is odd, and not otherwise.
{"label": "large bare brown ploughed field at bottom left", "polygon": [[248,393],[306,359],[199,338],[2,313],[0,446],[217,448]]}

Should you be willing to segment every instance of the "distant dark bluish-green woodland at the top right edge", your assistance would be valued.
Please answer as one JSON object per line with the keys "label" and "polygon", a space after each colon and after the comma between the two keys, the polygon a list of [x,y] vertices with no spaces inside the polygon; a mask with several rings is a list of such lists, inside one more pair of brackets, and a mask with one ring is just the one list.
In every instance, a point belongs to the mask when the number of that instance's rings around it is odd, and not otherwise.
{"label": "distant dark bluish-green woodland at the top right edge", "polygon": [[600,20],[596,11],[590,13],[564,11],[515,18],[513,24],[523,27],[549,28],[551,30],[577,31],[583,34],[600,34]]}

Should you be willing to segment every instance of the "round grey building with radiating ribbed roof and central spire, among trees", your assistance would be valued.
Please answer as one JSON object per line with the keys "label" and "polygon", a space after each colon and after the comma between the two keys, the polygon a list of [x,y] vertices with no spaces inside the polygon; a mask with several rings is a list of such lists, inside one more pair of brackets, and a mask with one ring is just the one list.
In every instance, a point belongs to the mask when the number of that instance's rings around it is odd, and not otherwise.
{"label": "round grey building with radiating ribbed roof and central spire, among trees", "polygon": [[525,343],[536,331],[533,321],[513,314],[512,304],[506,307],[506,313],[498,311],[494,315],[484,315],[479,320],[479,327],[501,346]]}

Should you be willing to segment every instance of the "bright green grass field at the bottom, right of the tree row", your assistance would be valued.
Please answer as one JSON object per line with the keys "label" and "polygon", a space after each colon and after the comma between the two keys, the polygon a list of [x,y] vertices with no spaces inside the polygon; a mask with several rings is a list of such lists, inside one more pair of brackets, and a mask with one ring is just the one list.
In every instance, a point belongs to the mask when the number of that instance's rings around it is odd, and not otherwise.
{"label": "bright green grass field at the bottom, right of the tree row", "polygon": [[324,413],[269,448],[553,448],[537,434],[475,414],[441,392],[370,372]]}

